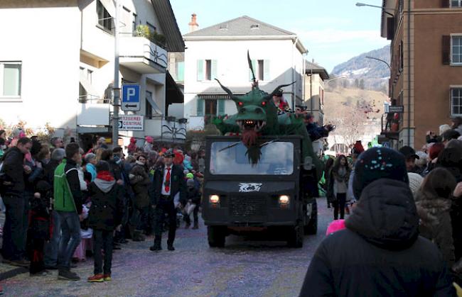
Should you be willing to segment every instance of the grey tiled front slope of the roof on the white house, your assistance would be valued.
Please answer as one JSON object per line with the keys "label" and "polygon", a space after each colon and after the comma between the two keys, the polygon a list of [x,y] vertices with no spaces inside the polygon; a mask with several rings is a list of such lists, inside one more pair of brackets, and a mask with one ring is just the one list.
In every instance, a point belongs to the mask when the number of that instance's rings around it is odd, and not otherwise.
{"label": "grey tiled front slope of the roof on the white house", "polygon": [[193,36],[295,36],[295,33],[277,28],[249,16],[233,18],[230,21],[218,23],[207,28],[185,34],[184,37]]}

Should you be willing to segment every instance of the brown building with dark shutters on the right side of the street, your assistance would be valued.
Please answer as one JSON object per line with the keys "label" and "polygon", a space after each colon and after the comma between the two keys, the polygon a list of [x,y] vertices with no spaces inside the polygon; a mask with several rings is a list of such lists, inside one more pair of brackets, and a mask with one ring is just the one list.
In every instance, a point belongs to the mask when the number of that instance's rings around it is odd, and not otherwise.
{"label": "brown building with dark shutters on the right side of the street", "polygon": [[462,116],[462,1],[383,0],[382,7],[390,97],[392,106],[404,107],[384,121],[382,135],[419,149],[426,131]]}

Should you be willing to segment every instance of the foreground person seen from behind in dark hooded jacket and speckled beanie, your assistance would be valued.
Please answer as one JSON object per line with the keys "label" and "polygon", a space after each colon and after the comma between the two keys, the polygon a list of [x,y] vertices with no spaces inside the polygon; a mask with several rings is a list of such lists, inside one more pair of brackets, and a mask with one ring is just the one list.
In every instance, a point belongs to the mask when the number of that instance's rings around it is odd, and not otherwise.
{"label": "foreground person seen from behind in dark hooded jacket and speckled beanie", "polygon": [[362,153],[353,191],[361,198],[346,229],[321,242],[300,296],[454,296],[441,252],[419,237],[404,156]]}

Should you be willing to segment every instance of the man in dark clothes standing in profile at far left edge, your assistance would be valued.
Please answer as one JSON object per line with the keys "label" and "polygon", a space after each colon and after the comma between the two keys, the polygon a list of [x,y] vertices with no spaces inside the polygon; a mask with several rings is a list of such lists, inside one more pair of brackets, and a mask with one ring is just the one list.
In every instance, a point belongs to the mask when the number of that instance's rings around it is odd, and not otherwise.
{"label": "man in dark clothes standing in profile at far left edge", "polygon": [[26,232],[28,227],[27,204],[24,191],[26,184],[24,173],[31,173],[31,168],[24,165],[24,155],[31,150],[32,141],[20,138],[16,147],[6,151],[0,172],[1,196],[6,206],[6,218],[1,254],[4,262],[21,267],[28,267],[26,256]]}

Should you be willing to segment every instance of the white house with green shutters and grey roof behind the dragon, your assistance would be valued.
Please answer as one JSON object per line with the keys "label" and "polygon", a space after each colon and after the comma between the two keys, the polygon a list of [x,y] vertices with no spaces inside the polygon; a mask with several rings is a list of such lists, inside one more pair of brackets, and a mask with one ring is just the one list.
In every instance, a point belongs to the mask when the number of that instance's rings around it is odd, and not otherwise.
{"label": "white house with green shutters and grey roof behind the dragon", "polygon": [[[191,23],[195,23],[195,16]],[[193,27],[194,29],[194,27]],[[188,128],[200,129],[210,116],[236,113],[235,103],[215,79],[234,94],[250,91],[252,76],[247,50],[260,89],[284,88],[289,106],[303,103],[303,54],[306,48],[295,33],[249,16],[183,35],[185,41],[185,116]]]}

